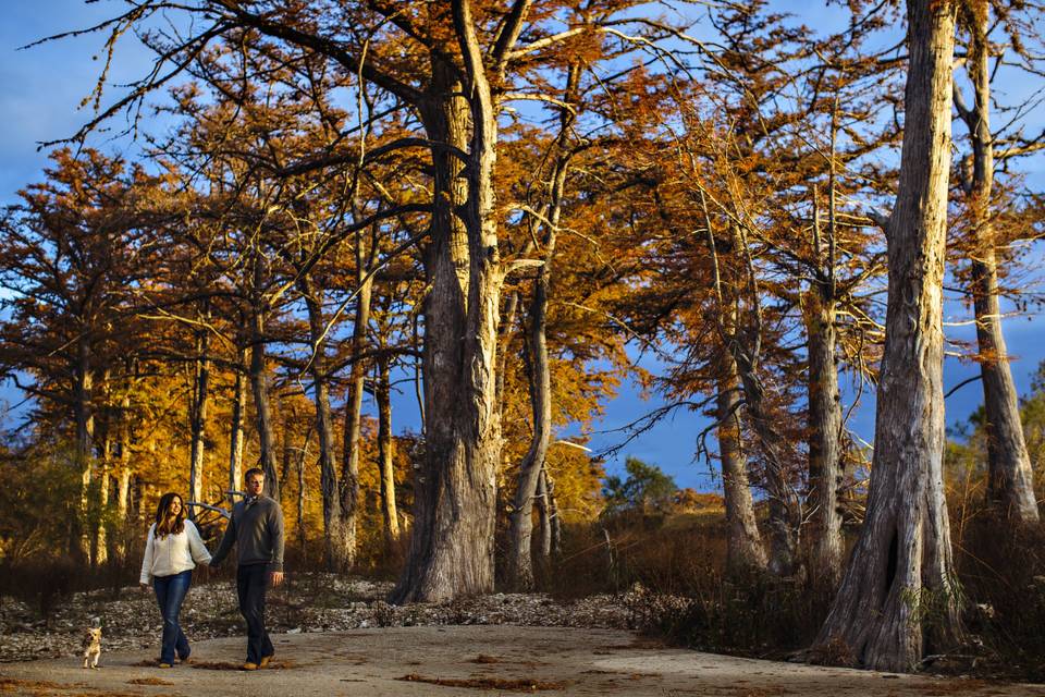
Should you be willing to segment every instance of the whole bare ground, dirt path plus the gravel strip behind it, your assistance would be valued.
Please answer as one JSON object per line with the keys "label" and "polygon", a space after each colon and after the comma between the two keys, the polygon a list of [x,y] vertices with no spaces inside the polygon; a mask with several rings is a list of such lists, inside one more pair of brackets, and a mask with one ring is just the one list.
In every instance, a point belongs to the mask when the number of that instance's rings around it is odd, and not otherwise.
{"label": "whole bare ground, dirt path plus the gravel strip behind it", "polygon": [[[175,695],[1040,695],[1045,685],[896,675],[669,648],[630,627],[628,599],[558,602],[496,595],[435,606],[386,606],[386,584],[315,576],[271,594],[276,657],[243,673],[245,639],[228,582],[197,585],[183,609],[193,657],[153,667],[159,613],[150,595],[77,594],[51,621],[0,600],[0,694]],[[36,615],[38,616],[38,614]],[[83,627],[104,628],[100,668],[81,668]]]}

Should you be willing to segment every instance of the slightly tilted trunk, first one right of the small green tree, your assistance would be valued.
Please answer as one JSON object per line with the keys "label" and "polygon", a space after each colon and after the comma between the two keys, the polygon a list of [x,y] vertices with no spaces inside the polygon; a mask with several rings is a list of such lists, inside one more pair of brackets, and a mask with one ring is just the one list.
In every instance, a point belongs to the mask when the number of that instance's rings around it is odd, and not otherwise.
{"label": "slightly tilted trunk, first one right of the small green tree", "polygon": [[754,503],[748,481],[747,458],[740,448],[740,384],[737,363],[723,352],[715,418],[718,421],[718,457],[726,506],[726,568],[732,574],[764,571],[765,550],[754,519]]}

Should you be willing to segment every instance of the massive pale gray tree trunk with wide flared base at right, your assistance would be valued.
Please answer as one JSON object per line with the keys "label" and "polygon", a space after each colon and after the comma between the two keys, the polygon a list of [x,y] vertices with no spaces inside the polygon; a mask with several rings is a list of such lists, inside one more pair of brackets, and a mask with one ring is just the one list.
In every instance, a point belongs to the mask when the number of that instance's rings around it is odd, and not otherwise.
{"label": "massive pale gray tree trunk with wide flared base at right", "polygon": [[[910,68],[868,511],[816,643],[912,669],[960,635],[944,501],[943,274],[955,5],[908,1]],[[932,622],[925,622],[926,613]]]}

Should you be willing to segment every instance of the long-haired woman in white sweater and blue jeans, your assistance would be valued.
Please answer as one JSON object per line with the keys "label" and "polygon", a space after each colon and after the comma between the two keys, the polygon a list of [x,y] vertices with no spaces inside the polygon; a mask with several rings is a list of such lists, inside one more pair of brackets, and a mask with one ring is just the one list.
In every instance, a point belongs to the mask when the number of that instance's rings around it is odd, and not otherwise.
{"label": "long-haired woman in white sweater and blue jeans", "polygon": [[185,519],[185,504],[173,491],[160,497],[156,506],[156,523],[149,528],[142,561],[142,588],[151,582],[156,599],[163,615],[163,644],[160,649],[160,668],[174,664],[174,652],[182,661],[188,659],[192,649],[188,639],[177,623],[182,601],[193,582],[196,564],[209,564],[210,552],[204,546],[199,531],[192,521]]}

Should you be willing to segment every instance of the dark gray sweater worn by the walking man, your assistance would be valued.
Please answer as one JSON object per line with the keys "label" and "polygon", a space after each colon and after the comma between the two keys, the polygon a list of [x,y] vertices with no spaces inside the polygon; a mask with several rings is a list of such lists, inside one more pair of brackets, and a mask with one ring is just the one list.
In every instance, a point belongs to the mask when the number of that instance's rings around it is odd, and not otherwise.
{"label": "dark gray sweater worn by the walking man", "polygon": [[239,565],[268,564],[269,571],[283,571],[283,510],[275,500],[260,496],[241,501],[232,508],[232,519],[225,527],[218,551],[210,561],[217,566],[225,560],[235,543]]}

